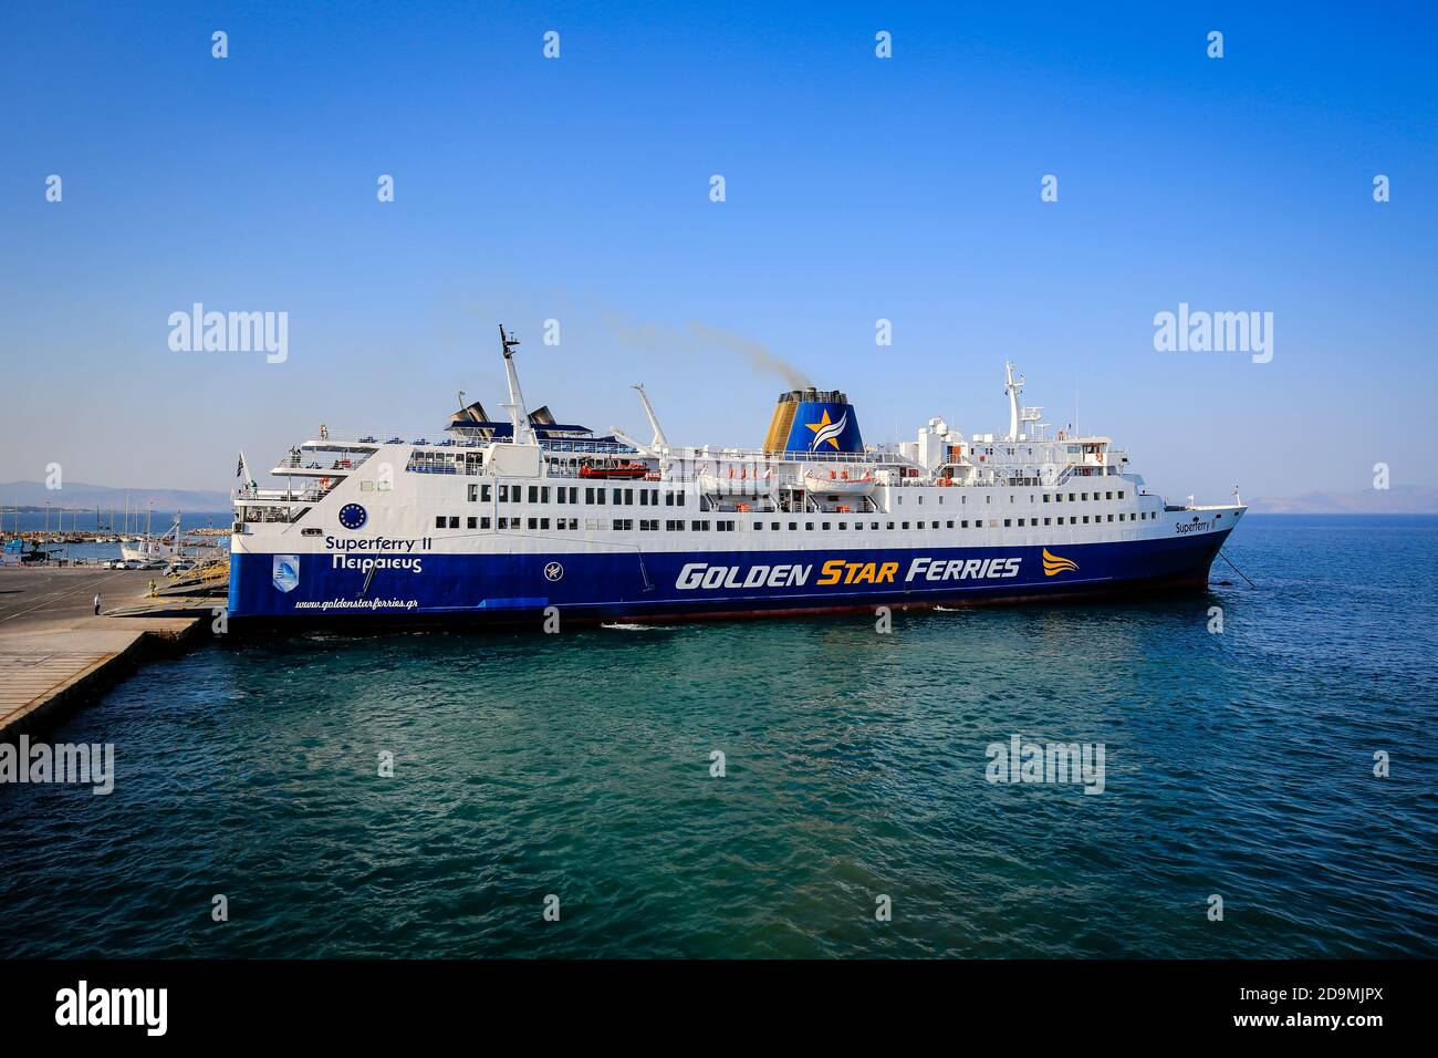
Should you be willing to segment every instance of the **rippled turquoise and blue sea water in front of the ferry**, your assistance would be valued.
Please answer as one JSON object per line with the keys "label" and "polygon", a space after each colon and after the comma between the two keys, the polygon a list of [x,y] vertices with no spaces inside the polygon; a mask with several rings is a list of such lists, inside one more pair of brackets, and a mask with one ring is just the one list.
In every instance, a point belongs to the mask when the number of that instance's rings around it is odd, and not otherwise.
{"label": "rippled turquoise and blue sea water in front of the ferry", "polygon": [[[217,642],[49,734],[111,796],[0,786],[0,954],[1431,957],[1435,550],[1254,515],[1257,590]],[[1104,792],[989,783],[1012,734]]]}

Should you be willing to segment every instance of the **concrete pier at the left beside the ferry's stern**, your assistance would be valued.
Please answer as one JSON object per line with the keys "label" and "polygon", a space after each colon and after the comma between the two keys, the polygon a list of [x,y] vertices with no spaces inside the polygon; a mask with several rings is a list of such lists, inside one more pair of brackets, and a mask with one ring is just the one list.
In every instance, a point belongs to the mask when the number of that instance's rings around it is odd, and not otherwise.
{"label": "concrete pier at the left beside the ferry's stern", "polygon": [[167,613],[164,600],[148,597],[152,579],[161,580],[147,570],[0,569],[0,738],[56,718],[145,656],[207,630],[211,603],[170,603]]}

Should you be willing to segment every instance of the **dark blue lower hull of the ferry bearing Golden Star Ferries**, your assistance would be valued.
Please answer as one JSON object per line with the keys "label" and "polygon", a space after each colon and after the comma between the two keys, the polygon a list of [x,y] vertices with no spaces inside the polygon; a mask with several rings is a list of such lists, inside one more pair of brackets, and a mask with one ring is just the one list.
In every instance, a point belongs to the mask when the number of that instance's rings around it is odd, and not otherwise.
{"label": "dark blue lower hull of the ferry bearing Golden Star Ferries", "polygon": [[[302,554],[298,569],[276,573],[270,554],[230,556],[230,618],[324,619],[325,623],[372,623],[423,619],[515,620],[557,606],[565,616],[654,618],[853,609],[881,605],[986,603],[1102,594],[1168,584],[1204,584],[1228,531],[1175,540],[1103,544],[1053,544],[1073,563],[1045,573],[1043,547],[823,548],[810,551],[670,551],[557,554],[424,554],[420,570],[336,566],[334,556]],[[929,564],[907,579],[915,559]],[[820,583],[825,563],[871,566],[869,576],[894,570],[883,583]],[[974,563],[1017,560],[998,569]],[[968,564],[965,570],[956,563]],[[558,564],[561,569],[554,569]],[[710,573],[712,586],[689,590],[677,582],[703,583],[696,564],[733,567]],[[1002,573],[1017,564],[1014,576]],[[759,583],[755,567],[768,567]],[[775,567],[807,567],[807,574],[775,574]],[[546,576],[546,567],[549,576]],[[686,577],[687,567],[687,577]],[[938,577],[929,571],[939,567]],[[830,567],[833,569],[833,567]],[[1050,569],[1054,569],[1050,564]],[[843,567],[846,576],[851,576]],[[854,574],[858,574],[854,570]],[[968,573],[969,576],[963,576]],[[371,576],[372,574],[372,576]],[[558,579],[552,579],[558,574]],[[945,576],[949,574],[949,576]],[[792,580],[795,583],[785,583]],[[280,584],[290,590],[280,590]]]}

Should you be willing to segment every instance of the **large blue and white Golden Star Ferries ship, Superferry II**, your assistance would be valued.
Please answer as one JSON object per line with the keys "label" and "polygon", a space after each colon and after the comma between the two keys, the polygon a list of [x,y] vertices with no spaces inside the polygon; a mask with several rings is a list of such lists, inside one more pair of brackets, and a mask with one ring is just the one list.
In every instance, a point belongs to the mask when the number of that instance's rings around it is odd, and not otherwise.
{"label": "large blue and white Golden Star Ferries ship, Superferry II", "polygon": [[[673,620],[1202,589],[1247,508],[1152,492],[1107,436],[1021,403],[1008,430],[930,419],[866,445],[844,393],[779,396],[759,448],[646,443],[529,410],[499,328],[508,415],[443,439],[321,426],[260,488],[243,452],[234,622]],[[460,397],[463,404],[463,394]]]}

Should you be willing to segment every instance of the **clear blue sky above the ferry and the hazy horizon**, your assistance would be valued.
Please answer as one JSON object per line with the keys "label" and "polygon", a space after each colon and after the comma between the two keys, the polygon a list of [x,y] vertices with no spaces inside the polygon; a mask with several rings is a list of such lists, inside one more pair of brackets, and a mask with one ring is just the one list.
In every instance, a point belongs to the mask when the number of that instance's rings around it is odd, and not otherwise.
{"label": "clear blue sky above the ferry and the hazy horizon", "polygon": [[[644,381],[682,443],[761,440],[787,383],[748,341],[846,390],[869,440],[1001,430],[1012,357],[1027,402],[1061,426],[1077,392],[1171,497],[1356,491],[1378,461],[1438,485],[1414,436],[1438,393],[1431,12],[56,3],[0,26],[0,481],[227,488],[237,448],[269,465],[321,420],[433,436],[459,389],[498,412],[505,321],[531,404],[640,430]],[[288,312],[288,361],[171,351],[196,301]],[[1181,301],[1271,311],[1273,361],[1155,351]]]}

